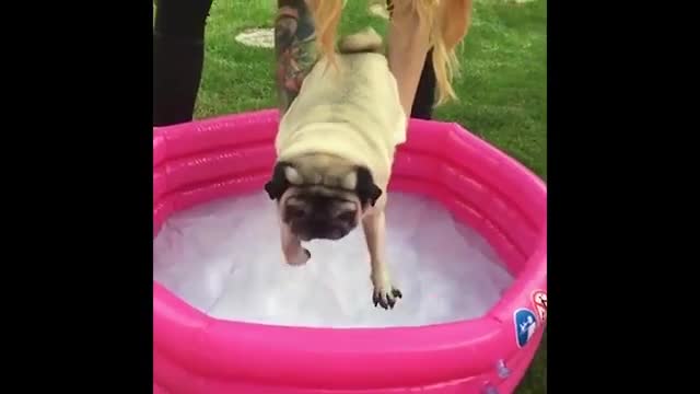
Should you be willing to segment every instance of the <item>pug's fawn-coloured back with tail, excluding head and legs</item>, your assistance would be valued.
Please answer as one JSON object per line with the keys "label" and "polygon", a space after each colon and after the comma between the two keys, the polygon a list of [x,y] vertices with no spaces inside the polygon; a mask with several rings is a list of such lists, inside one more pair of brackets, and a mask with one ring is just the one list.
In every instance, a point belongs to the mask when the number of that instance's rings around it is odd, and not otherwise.
{"label": "pug's fawn-coloured back with tail, excluding head and legs", "polygon": [[377,185],[388,182],[407,116],[396,79],[373,30],[343,37],[336,63],[322,58],[280,120],[278,158],[326,153],[366,166]]}

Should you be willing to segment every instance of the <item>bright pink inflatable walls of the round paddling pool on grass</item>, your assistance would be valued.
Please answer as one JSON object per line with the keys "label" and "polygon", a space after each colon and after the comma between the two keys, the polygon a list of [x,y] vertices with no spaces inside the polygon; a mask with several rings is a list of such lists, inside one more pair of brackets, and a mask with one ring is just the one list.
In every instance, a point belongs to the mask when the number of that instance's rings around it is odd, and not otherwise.
{"label": "bright pink inflatable walls of the round paddling pool on grass", "polygon": [[[173,212],[260,193],[277,120],[262,111],[154,129],[154,236]],[[546,321],[545,184],[456,124],[412,120],[389,188],[440,201],[499,253],[516,279],[490,312],[421,327],[246,324],[209,317],[154,281],[154,393],[512,393]]]}

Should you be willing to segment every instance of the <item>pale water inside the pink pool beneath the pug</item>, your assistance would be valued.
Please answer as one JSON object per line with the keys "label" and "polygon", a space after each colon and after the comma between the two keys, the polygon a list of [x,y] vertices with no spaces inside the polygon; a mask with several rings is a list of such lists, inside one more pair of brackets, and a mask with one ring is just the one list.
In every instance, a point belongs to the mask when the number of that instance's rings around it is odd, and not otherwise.
{"label": "pale water inside the pink pool beneath the pug", "polygon": [[211,316],[291,326],[416,326],[475,318],[512,282],[495,253],[440,205],[393,193],[387,256],[404,298],[372,304],[361,228],[313,241],[312,259],[288,266],[273,202],[264,193],[172,216],[153,241],[153,279]]}

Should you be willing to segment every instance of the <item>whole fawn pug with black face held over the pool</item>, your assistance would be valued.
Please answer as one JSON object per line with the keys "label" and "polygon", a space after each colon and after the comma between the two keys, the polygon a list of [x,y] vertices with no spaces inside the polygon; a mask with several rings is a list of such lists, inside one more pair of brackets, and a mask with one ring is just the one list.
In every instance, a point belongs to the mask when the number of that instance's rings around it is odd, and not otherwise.
{"label": "whole fawn pug with black face held over the pool", "polygon": [[336,241],[362,223],[374,306],[402,297],[386,262],[386,188],[407,116],[382,37],[366,30],[342,38],[331,62],[322,58],[282,114],[277,162],[265,185],[277,201],[288,264],[311,257],[301,242]]}

